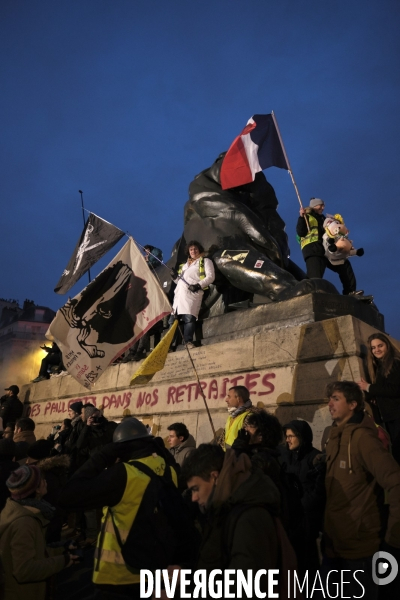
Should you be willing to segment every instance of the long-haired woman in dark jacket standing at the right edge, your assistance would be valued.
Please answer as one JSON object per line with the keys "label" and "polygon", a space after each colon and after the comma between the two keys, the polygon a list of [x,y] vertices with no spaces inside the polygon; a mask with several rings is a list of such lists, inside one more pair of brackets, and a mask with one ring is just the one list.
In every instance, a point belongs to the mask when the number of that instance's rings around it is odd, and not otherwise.
{"label": "long-haired woman in dark jacket standing at the right edge", "polygon": [[370,383],[358,382],[371,404],[374,418],[390,435],[392,454],[400,463],[400,352],[383,333],[367,341]]}

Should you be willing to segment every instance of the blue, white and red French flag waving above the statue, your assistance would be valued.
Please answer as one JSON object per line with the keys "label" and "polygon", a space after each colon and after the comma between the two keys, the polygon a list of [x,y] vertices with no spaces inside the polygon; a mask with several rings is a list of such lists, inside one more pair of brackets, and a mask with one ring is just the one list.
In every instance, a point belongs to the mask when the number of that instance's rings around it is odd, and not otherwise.
{"label": "blue, white and red French flag waving above the statue", "polygon": [[268,167],[291,170],[274,115],[254,115],[222,161],[221,187],[251,183],[256,173]]}

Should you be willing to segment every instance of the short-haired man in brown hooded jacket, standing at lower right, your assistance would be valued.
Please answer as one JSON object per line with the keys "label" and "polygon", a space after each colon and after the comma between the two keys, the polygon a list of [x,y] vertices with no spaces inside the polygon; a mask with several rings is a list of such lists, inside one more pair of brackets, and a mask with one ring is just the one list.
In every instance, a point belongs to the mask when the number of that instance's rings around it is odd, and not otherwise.
{"label": "short-haired man in brown hooded jacket, standing at lower right", "polygon": [[[326,395],[333,426],[326,443],[322,568],[326,572],[357,571],[365,590],[362,597],[375,600],[379,591],[373,572],[375,553],[386,551],[400,560],[400,467],[379,440],[374,420],[364,411],[363,392],[357,383],[330,383]],[[388,505],[387,521],[384,503]],[[360,597],[361,586],[351,575],[347,579],[350,584],[342,593]],[[398,598],[398,581],[387,582],[385,593],[392,585],[397,588],[387,597]]]}

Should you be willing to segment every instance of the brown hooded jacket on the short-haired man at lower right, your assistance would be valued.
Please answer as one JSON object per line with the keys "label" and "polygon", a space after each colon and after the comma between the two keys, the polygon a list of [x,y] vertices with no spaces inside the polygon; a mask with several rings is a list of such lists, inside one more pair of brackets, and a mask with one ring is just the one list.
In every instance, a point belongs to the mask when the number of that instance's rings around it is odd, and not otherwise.
{"label": "brown hooded jacket on the short-haired man at lower right", "polygon": [[386,492],[386,542],[400,548],[400,467],[383,447],[367,413],[335,424],[326,444],[325,546],[328,556],[372,556],[381,542],[380,504]]}

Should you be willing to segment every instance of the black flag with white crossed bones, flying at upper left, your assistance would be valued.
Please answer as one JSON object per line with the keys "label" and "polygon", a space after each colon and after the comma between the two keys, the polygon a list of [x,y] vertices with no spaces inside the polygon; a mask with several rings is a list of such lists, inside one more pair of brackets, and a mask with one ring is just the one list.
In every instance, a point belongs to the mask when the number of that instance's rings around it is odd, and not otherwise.
{"label": "black flag with white crossed bones, flying at upper left", "polygon": [[54,291],[65,294],[106,252],[124,236],[124,232],[90,213],[69,263]]}

